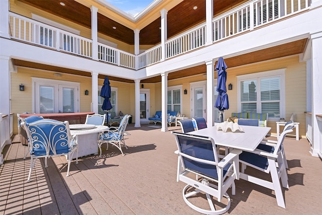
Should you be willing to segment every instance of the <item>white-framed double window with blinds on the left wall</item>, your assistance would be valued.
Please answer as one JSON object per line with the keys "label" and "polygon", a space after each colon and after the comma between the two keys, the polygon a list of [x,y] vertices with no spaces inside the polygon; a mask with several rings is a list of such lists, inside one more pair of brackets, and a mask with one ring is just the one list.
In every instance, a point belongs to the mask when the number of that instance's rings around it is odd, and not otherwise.
{"label": "white-framed double window with blinds on the left wall", "polygon": [[79,83],[33,78],[33,112],[79,112]]}

